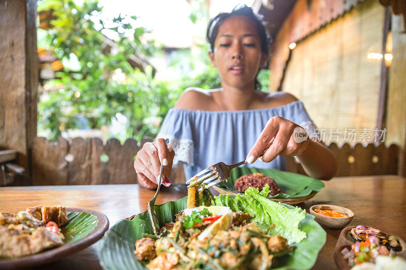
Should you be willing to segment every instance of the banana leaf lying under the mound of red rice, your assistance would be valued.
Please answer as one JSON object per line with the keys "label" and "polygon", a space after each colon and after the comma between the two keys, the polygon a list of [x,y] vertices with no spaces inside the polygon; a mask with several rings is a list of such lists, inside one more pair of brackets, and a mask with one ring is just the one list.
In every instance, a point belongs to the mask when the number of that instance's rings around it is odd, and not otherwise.
{"label": "banana leaf lying under the mound of red rice", "polygon": [[322,181],[306,175],[284,172],[276,169],[259,169],[246,166],[232,169],[230,172],[230,177],[227,179],[227,181],[223,181],[217,184],[217,186],[225,190],[239,193],[239,191],[235,190],[234,188],[235,181],[240,176],[251,173],[262,173],[263,175],[275,179],[275,182],[278,184],[282,193],[275,196],[268,196],[268,199],[296,199],[299,197],[308,196],[312,192],[319,192],[324,187],[324,183]]}

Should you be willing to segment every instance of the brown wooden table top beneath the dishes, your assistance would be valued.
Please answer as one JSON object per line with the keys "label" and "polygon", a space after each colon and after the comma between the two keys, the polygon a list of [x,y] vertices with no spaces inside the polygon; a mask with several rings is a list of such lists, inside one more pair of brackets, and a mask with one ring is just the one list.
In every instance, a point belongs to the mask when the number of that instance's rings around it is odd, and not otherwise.
{"label": "brown wooden table top beneath the dishes", "polygon": [[[406,239],[406,179],[394,175],[337,177],[325,182],[312,200],[299,204],[306,209],[315,204],[347,207],[355,216],[350,225],[375,226]],[[0,210],[20,211],[27,206],[60,204],[103,212],[112,226],[119,219],[145,211],[155,191],[139,185],[29,186],[0,188]],[[185,185],[161,188],[157,204],[186,196]],[[341,229],[325,229],[327,242],[314,269],[335,267],[333,251]],[[97,243],[42,269],[100,269]]]}

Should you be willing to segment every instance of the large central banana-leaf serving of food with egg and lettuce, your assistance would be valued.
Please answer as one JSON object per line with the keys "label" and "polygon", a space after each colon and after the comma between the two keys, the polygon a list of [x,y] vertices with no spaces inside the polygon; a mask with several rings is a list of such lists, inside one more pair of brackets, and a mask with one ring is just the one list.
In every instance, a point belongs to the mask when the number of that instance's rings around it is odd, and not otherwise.
{"label": "large central banana-leaf serving of food with egg and lettuce", "polygon": [[[252,187],[244,195],[188,196],[156,205],[153,234],[145,211],[118,221],[101,240],[104,269],[310,269],[326,233],[306,211],[266,199]],[[289,218],[286,218],[288,216]]]}

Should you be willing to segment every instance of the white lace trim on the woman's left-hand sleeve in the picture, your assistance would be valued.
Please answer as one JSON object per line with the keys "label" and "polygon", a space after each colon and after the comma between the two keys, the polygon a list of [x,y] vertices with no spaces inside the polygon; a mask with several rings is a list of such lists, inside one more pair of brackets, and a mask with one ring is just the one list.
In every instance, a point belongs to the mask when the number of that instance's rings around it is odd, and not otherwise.
{"label": "white lace trim on the woman's left-hand sleeve in the picture", "polygon": [[172,144],[172,149],[175,150],[175,158],[173,166],[181,165],[194,165],[193,152],[194,145],[193,141],[189,139],[178,139],[171,135],[158,134],[157,138],[168,138],[169,142]]}

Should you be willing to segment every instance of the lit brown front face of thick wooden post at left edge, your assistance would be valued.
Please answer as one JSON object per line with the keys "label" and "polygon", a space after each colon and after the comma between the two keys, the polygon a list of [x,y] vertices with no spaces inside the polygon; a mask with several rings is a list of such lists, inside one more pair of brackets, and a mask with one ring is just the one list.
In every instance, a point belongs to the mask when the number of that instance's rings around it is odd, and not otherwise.
{"label": "lit brown front face of thick wooden post at left edge", "polygon": [[0,148],[25,167],[25,0],[0,1],[0,33]]}

